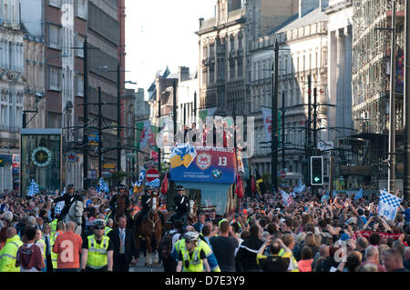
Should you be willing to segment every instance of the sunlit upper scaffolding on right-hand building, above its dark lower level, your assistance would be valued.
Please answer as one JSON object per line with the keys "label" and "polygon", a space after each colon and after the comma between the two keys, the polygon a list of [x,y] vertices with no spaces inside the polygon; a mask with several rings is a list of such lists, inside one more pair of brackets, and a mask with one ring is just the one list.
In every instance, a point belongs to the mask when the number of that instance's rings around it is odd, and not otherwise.
{"label": "sunlit upper scaffolding on right-hand building, above its dark lower level", "polygon": [[[405,0],[396,2],[396,50],[405,45]],[[354,128],[361,133],[388,133],[390,93],[391,0],[354,1],[352,97]],[[403,130],[403,93],[396,92],[396,130]]]}

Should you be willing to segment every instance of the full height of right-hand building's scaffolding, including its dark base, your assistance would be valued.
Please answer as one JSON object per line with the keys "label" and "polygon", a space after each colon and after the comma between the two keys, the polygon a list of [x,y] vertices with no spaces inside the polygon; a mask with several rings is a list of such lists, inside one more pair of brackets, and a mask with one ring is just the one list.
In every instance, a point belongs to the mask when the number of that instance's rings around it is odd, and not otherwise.
{"label": "full height of right-hand building's scaffolding, including its dark base", "polygon": [[[372,182],[386,179],[389,134],[390,75],[401,74],[400,67],[391,70],[393,3],[395,1],[395,51],[401,57],[405,45],[405,0],[354,1],[352,115],[358,143],[358,164],[372,167]],[[380,29],[382,28],[382,29]],[[398,59],[396,58],[396,66]],[[400,66],[400,65],[399,65]],[[399,68],[399,71],[397,70]],[[404,69],[402,69],[402,72]],[[403,90],[395,87],[396,148],[403,145]],[[396,155],[396,163],[403,162]],[[400,178],[402,173],[397,172]]]}

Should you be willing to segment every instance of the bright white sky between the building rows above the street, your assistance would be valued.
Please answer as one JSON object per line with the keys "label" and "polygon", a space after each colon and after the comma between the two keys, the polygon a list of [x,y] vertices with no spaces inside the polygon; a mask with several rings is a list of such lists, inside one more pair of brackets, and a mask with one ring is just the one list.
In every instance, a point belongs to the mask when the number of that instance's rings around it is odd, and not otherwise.
{"label": "bright white sky between the building rows above the street", "polygon": [[147,89],[167,65],[197,70],[199,18],[214,15],[215,0],[126,0],[126,81]]}

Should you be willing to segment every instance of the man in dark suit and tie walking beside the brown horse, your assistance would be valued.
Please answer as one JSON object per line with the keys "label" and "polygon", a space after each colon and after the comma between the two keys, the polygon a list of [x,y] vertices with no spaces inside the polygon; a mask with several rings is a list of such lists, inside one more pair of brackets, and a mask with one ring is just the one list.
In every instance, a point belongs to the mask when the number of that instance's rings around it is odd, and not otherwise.
{"label": "man in dark suit and tie walking beside the brown horse", "polygon": [[114,245],[113,272],[129,272],[129,264],[135,257],[138,262],[139,253],[134,233],[126,228],[127,218],[118,218],[118,228],[108,233],[109,240]]}

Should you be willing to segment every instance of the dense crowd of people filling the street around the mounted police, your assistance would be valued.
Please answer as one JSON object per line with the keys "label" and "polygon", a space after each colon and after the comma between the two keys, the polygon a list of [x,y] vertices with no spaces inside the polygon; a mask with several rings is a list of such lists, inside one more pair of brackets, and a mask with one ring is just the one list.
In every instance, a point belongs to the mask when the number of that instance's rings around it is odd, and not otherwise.
{"label": "dense crowd of people filling the street around the mounted police", "polygon": [[[128,272],[141,249],[122,216],[114,225],[113,196],[128,195],[128,210],[138,211],[140,194],[125,190],[97,192],[92,187],[66,195],[84,202],[83,225],[59,218],[58,193],[0,196],[0,271]],[[283,188],[292,192],[292,188]],[[149,194],[152,189],[149,191]],[[143,195],[145,191],[142,191]],[[179,195],[183,195],[179,188]],[[403,200],[388,220],[377,214],[378,196],[355,200],[347,195],[324,199],[311,189],[285,205],[280,194],[248,196],[236,212],[216,215],[199,210],[198,222],[172,219],[164,231],[159,257],[165,272],[408,272],[410,270],[410,202]],[[56,202],[57,201],[57,202]],[[179,196],[179,204],[185,199]],[[165,203],[165,200],[163,201]],[[114,207],[113,207],[114,206]],[[185,209],[186,210],[186,209]],[[178,209],[177,209],[178,212]],[[133,215],[131,215],[133,216]],[[164,222],[163,220],[161,221]],[[64,259],[65,241],[75,253]]]}

